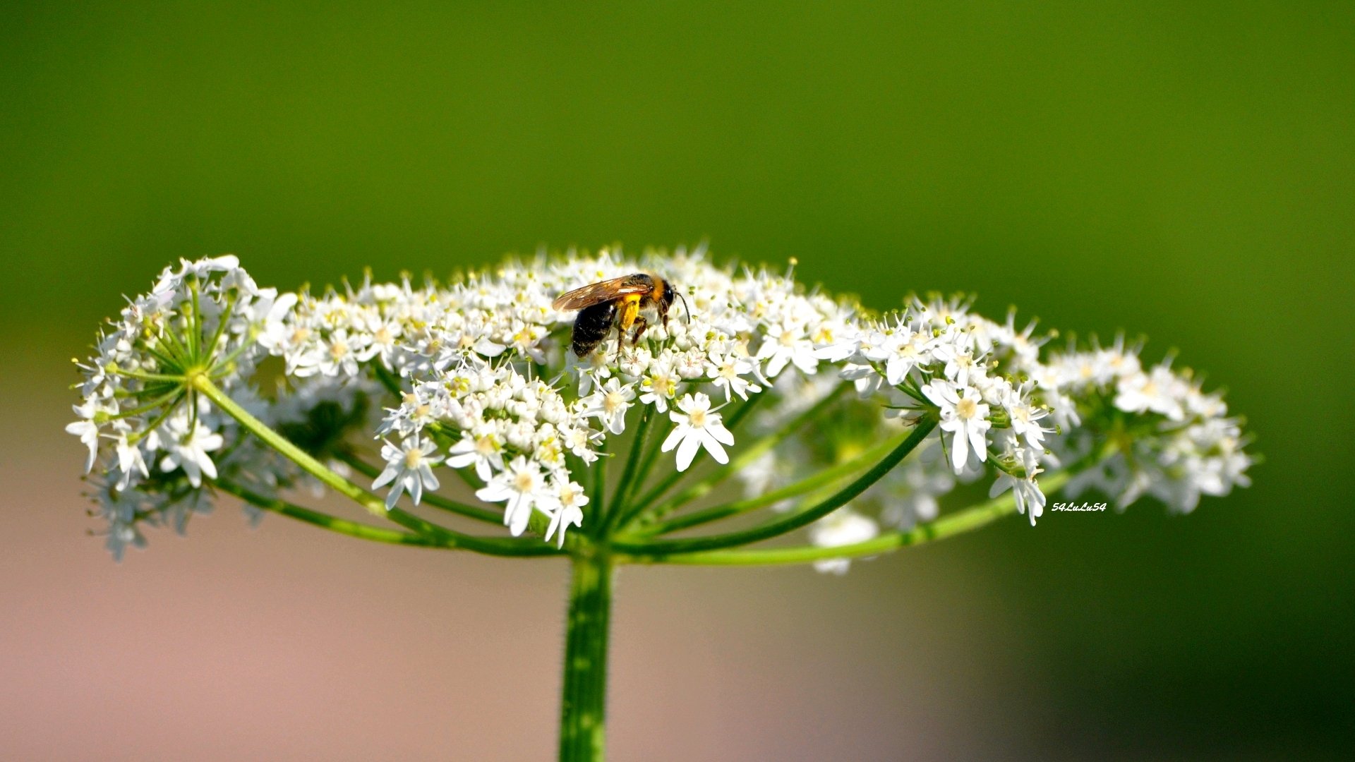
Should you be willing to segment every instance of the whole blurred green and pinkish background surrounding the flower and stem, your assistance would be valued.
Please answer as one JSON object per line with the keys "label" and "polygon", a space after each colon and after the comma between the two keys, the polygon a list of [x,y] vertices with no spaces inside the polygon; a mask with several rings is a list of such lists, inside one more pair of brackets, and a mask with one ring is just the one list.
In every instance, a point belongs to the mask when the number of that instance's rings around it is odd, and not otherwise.
{"label": "whole blurred green and pinkish background surrounding the flower and stem", "polygon": [[[0,681],[4,757],[88,758],[85,740],[129,753],[118,738],[141,759],[314,757],[333,739],[327,758],[379,755],[392,747],[360,721],[260,729],[374,694],[412,744],[402,758],[454,755],[442,746],[454,731],[435,729],[449,725],[482,744],[467,758],[547,757],[561,568],[504,571],[522,575],[509,584],[476,563],[408,561],[282,519],[249,533],[233,510],[114,567],[81,534],[81,449],[60,431],[69,358],[119,294],[179,256],[234,252],[262,283],[295,287],[369,264],[394,277],[542,244],[709,239],[721,258],[795,256],[805,279],[881,308],[963,289],[996,317],[1015,304],[1081,335],[1145,332],[1149,358],[1179,347],[1179,362],[1229,389],[1267,462],[1253,488],[1191,517],[1144,503],[1037,529],[1009,521],[846,579],[630,569],[617,758],[1351,758],[1351,4],[4,11],[0,469],[16,529],[0,563],[0,645],[7,674],[23,675]],[[430,654],[454,621],[481,648],[493,628],[539,633],[516,683],[539,683],[530,698],[492,670],[435,696],[451,706],[416,708],[404,683],[382,682],[423,664],[390,655],[379,622],[351,622],[381,609],[385,584],[436,587],[449,569],[542,605],[507,622],[485,603],[484,621],[466,622],[458,597],[476,593],[454,588],[382,616],[406,617],[401,637]],[[188,637],[255,637],[229,617],[195,629],[209,621],[195,618],[209,616],[192,603],[198,575],[241,611],[257,613],[253,594],[229,580],[295,588],[252,628],[286,630],[312,605],[340,620],[316,633],[318,649],[328,632],[370,637],[305,679],[286,660],[234,678],[228,717],[244,729],[230,735],[207,719],[221,697],[195,686],[275,649],[176,651],[168,668],[164,641],[136,645],[163,632],[137,629],[152,614]],[[324,584],[341,587],[316,598]],[[314,603],[350,598],[371,605],[340,616]],[[436,626],[411,614],[443,607]],[[328,682],[373,652],[394,659],[389,670],[351,694]],[[463,668],[444,658],[438,668]],[[925,678],[908,678],[919,668]],[[274,679],[314,690],[270,704]],[[747,721],[710,709],[729,697]],[[489,738],[474,708],[493,701],[531,720]],[[184,702],[194,710],[175,715],[171,743],[157,712]],[[43,729],[24,708],[75,715]]]}

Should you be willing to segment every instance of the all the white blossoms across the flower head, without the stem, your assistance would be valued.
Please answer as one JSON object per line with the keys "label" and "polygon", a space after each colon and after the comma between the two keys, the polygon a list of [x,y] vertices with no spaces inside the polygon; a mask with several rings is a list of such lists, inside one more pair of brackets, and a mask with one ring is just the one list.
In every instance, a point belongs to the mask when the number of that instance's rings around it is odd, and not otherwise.
{"label": "all the white blossoms across the flower head, without the stem", "polygon": [[[618,347],[611,332],[576,358],[577,313],[553,309],[556,297],[637,271],[665,278],[690,312],[675,304],[667,320],[650,315],[634,346]],[[938,427],[814,527],[812,541],[825,546],[873,536],[873,503],[886,523],[935,518],[957,480],[989,466],[993,494],[1011,489],[1034,522],[1045,504],[1038,475],[1102,447],[1112,426],[1129,426],[1134,450],[1098,461],[1079,487],[1123,503],[1149,492],[1190,510],[1201,494],[1245,484],[1251,461],[1217,395],[1165,365],[1144,372],[1121,343],[1042,359],[1045,340],[962,300],[912,300],[870,317],[850,300],[806,292],[790,271],[718,267],[701,249],[538,256],[417,287],[369,277],[321,296],[259,289],[226,256],[165,270],[150,294],[130,300],[81,365],[80,420],[68,430],[89,447],[91,468],[104,456],[95,492],[115,552],[141,544],[138,523],[202,510],[214,479],[266,494],[306,483],[176,381],[192,374],[210,376],[316,457],[351,454],[344,447],[363,434],[381,438],[385,464],[371,487],[386,491],[388,507],[404,495],[417,504],[450,468],[477,499],[503,504],[514,536],[541,515],[546,538],[561,544],[587,521],[584,472],[612,457],[608,443],[637,422],[660,430],[660,452],[687,470],[702,453],[725,464],[736,441],[828,401],[831,415],[740,470],[749,492],[860,458],[923,416]],[[263,395],[271,376],[257,367],[270,355],[280,358],[280,380]],[[829,400],[843,385],[856,395]],[[743,414],[755,403],[741,430],[729,424],[726,405]]]}

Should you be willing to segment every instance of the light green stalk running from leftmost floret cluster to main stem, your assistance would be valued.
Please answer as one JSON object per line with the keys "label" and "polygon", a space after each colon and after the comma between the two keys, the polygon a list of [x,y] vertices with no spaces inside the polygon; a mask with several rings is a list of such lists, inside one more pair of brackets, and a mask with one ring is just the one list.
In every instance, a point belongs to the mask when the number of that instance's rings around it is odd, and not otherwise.
{"label": "light green stalk running from leftmost floret cluster to main stem", "polygon": [[389,518],[390,521],[413,529],[415,532],[424,534],[432,540],[436,540],[442,545],[453,548],[465,548],[466,550],[474,550],[477,553],[485,553],[489,556],[556,556],[560,555],[558,550],[546,545],[545,542],[537,540],[519,540],[507,537],[477,537],[473,534],[462,534],[451,529],[438,526],[430,521],[424,521],[402,508],[386,510],[385,502],[367,492],[362,487],[358,487],[352,481],[348,481],[343,476],[335,473],[332,469],[317,461],[309,453],[301,447],[291,443],[290,439],[278,434],[262,420],[249,414],[245,408],[236,404],[229,395],[222,392],[211,378],[198,373],[190,377],[190,384],[198,389],[203,396],[215,403],[222,412],[230,418],[240,422],[247,431],[262,439],[266,445],[276,450],[285,458],[301,466],[302,470],[314,476],[327,487],[339,492],[340,495],[348,498],[350,500],[358,503],[359,506],[367,508],[369,513],[378,517]]}

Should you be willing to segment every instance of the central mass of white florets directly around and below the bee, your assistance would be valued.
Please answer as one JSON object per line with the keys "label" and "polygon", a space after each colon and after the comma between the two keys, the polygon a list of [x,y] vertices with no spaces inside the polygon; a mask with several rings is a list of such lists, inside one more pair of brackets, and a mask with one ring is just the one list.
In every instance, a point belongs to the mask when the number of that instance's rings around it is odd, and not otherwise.
{"label": "central mass of white florets directly around and below the bee", "polygon": [[[576,315],[554,310],[553,300],[645,268],[676,283],[691,313],[656,321],[635,347],[618,351],[612,336],[585,358],[570,355]],[[562,541],[588,503],[569,458],[593,464],[602,441],[626,431],[631,408],[669,418],[661,449],[676,452],[679,470],[702,450],[728,462],[734,438],[711,396],[748,400],[787,366],[814,373],[818,348],[848,329],[851,315],[843,302],[801,293],[790,275],[734,274],[701,252],[638,263],[604,251],[509,263],[446,286],[369,281],[302,294],[260,343],[290,376],[344,382],[377,366],[398,385],[400,404],[378,430],[394,439],[374,484],[393,485],[388,504],[402,492],[417,503],[439,485],[432,466],[446,464],[474,472],[484,484],[477,498],[504,503],[514,534],[538,511]]]}

